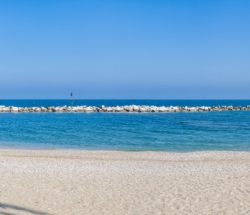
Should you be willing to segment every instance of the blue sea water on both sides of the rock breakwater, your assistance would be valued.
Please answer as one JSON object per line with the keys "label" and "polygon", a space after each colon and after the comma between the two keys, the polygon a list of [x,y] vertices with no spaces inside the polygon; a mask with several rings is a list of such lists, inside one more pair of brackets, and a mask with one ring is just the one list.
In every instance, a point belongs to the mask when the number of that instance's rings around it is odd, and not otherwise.
{"label": "blue sea water on both sides of the rock breakwater", "polygon": [[[0,105],[67,105],[5,100]],[[249,105],[249,100],[78,100],[81,105]],[[104,150],[250,150],[250,111],[202,113],[1,113],[0,147]]]}

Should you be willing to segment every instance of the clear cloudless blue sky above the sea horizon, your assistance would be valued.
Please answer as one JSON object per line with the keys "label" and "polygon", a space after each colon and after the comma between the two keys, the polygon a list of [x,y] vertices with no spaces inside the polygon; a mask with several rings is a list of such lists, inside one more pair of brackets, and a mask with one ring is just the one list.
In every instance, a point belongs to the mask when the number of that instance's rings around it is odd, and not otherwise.
{"label": "clear cloudless blue sky above the sea horizon", "polygon": [[248,0],[0,1],[0,98],[250,98]]}

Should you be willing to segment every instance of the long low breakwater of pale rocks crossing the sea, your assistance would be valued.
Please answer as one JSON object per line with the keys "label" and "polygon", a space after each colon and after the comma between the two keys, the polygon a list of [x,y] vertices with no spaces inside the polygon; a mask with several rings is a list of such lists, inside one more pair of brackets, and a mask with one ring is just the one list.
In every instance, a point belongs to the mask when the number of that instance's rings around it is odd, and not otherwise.
{"label": "long low breakwater of pale rocks crossing the sea", "polygon": [[250,111],[248,106],[51,106],[51,107],[14,107],[0,106],[0,112],[210,112],[210,111]]}

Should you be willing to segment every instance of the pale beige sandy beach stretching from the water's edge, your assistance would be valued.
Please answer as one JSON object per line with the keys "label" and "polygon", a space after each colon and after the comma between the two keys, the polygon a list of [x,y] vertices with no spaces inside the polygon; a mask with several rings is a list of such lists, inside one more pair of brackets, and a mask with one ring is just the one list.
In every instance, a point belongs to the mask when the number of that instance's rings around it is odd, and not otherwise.
{"label": "pale beige sandy beach stretching from the water's edge", "polygon": [[0,214],[250,214],[250,153],[0,150]]}

